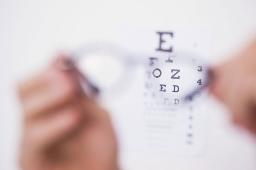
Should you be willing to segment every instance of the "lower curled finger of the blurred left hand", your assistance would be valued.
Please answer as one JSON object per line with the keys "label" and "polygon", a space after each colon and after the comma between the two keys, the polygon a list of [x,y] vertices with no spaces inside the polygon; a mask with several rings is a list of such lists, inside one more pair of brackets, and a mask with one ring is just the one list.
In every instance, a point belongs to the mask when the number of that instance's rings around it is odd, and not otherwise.
{"label": "lower curled finger of the blurred left hand", "polygon": [[81,113],[70,105],[48,117],[26,124],[25,143],[33,152],[44,150],[52,143],[71,133],[79,124]]}

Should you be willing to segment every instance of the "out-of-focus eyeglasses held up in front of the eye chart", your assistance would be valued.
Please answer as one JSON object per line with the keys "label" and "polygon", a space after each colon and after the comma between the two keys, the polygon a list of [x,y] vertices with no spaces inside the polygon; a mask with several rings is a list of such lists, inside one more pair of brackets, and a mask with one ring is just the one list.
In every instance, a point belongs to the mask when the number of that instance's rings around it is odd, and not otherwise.
{"label": "out-of-focus eyeglasses held up in front of the eye chart", "polygon": [[92,42],[69,56],[61,69],[76,67],[81,73],[81,85],[91,97],[119,96],[142,73],[140,85],[155,99],[163,103],[167,99],[187,101],[200,98],[212,79],[207,62],[189,51],[147,54],[107,42]]}

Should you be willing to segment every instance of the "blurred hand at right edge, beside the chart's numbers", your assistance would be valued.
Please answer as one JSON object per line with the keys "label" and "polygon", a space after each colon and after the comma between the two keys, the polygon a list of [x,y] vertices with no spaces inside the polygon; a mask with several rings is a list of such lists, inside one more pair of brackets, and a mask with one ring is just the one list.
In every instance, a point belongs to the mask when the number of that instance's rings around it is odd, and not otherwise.
{"label": "blurred hand at right edge, beside the chart's numbers", "polygon": [[256,133],[256,42],[213,69],[212,93],[227,104],[233,122]]}

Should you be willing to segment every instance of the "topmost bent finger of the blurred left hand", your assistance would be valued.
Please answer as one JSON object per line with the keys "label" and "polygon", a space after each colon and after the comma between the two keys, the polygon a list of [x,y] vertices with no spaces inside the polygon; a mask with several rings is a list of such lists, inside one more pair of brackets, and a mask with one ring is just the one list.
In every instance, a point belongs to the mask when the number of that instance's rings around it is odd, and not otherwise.
{"label": "topmost bent finger of the blurred left hand", "polygon": [[21,99],[26,119],[65,105],[82,93],[76,77],[56,67],[50,68],[42,79],[44,86],[33,87],[31,91],[26,91]]}

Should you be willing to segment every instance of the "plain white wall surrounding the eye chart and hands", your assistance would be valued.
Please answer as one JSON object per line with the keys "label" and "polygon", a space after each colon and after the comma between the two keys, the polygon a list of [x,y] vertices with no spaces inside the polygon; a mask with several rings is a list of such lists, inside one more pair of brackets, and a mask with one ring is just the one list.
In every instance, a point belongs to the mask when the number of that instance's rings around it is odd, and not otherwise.
{"label": "plain white wall surrounding the eye chart and hands", "polygon": [[[36,74],[59,49],[115,41],[122,25],[204,25],[212,34],[211,60],[232,57],[256,37],[254,0],[0,0],[0,170],[18,169],[22,113],[17,82]],[[233,127],[221,103],[210,99],[203,157],[120,153],[124,170],[254,170],[256,141]]]}

